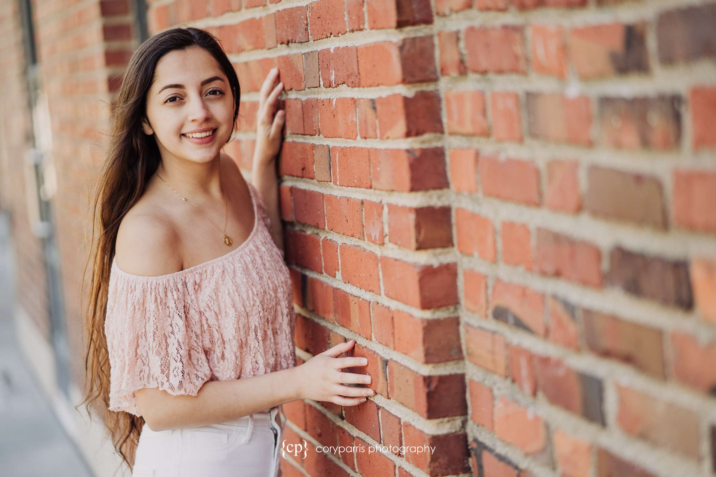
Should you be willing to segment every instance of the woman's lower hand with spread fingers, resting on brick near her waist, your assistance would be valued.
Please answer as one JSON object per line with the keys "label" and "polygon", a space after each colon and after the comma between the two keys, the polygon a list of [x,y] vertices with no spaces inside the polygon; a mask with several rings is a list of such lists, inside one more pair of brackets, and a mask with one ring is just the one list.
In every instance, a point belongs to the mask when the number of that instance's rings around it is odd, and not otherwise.
{"label": "woman's lower hand with spread fingers, resting on brick near her waist", "polygon": [[348,356],[338,358],[353,348],[355,340],[339,343],[323,353],[315,355],[302,365],[296,366],[296,385],[299,399],[329,401],[338,405],[358,405],[373,395],[371,388],[347,386],[349,383],[368,384],[370,375],[343,373],[342,368],[365,366],[367,358]]}

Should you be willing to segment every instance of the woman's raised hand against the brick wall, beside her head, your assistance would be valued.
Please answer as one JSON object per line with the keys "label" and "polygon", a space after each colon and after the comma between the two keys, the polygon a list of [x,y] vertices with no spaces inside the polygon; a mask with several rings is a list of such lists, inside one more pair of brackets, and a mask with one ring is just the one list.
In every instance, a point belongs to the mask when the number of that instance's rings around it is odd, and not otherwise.
{"label": "woman's raised hand against the brick wall, beside her head", "polygon": [[[261,93],[258,99],[258,112],[256,113],[256,149],[253,151],[253,162],[265,164],[276,159],[281,149],[281,134],[286,122],[286,112],[279,109],[276,104],[279,95],[284,91],[284,83],[276,84],[279,79],[279,69],[273,68],[263,80]],[[275,86],[274,86],[275,85]]]}

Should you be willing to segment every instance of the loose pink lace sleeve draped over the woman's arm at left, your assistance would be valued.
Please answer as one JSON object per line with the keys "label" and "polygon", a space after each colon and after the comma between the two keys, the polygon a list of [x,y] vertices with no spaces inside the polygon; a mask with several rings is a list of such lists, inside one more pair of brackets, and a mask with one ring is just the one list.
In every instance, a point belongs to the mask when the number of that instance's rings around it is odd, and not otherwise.
{"label": "loose pink lace sleeve draped over the woman's arm at left", "polygon": [[192,297],[185,277],[132,275],[113,262],[105,316],[110,410],[139,416],[137,389],[195,396],[211,378]]}

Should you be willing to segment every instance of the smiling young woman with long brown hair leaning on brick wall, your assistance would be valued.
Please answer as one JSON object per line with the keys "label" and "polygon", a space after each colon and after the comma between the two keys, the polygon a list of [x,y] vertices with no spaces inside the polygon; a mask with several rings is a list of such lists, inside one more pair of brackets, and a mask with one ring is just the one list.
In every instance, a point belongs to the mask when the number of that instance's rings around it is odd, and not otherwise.
{"label": "smiling young woman with long brown hair leaning on brick wall", "polygon": [[275,476],[283,403],[372,395],[352,385],[369,376],[341,371],[367,365],[340,358],[353,340],[296,366],[278,76],[261,88],[247,184],[221,152],[241,90],[214,36],[164,31],[127,67],[94,200],[82,403],[91,415],[100,400],[133,476]]}

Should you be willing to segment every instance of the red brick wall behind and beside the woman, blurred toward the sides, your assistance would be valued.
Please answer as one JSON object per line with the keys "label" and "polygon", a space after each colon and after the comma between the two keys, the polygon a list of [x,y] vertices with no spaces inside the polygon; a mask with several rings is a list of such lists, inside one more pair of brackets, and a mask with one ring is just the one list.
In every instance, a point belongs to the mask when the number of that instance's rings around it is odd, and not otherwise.
{"label": "red brick wall behind and beside the woman, blurred toward the sides", "polygon": [[[79,340],[82,187],[137,13],[32,3]],[[13,5],[0,200],[45,329]],[[226,152],[247,177],[279,67],[299,363],[349,338],[369,358],[366,403],[284,405],[286,442],[309,443],[285,476],[716,476],[715,3],[158,0],[147,21],[221,39],[243,99]],[[314,451],[375,444],[436,450]]]}

